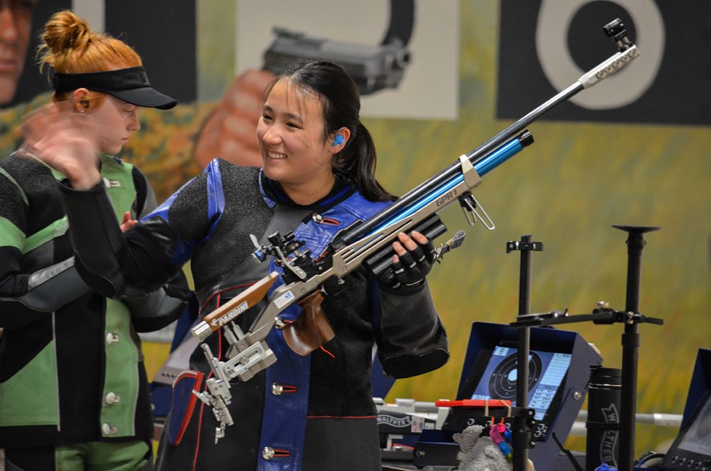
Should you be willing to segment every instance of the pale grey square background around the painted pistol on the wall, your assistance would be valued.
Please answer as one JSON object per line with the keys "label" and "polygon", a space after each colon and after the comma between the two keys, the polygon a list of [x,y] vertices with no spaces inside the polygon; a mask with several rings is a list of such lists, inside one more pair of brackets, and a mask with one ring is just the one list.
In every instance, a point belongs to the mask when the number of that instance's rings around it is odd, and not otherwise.
{"label": "pale grey square background around the painted pistol on the wall", "polygon": [[[303,33],[339,51],[378,46],[390,27],[382,0],[323,2],[237,0],[235,75],[264,66],[274,28]],[[456,120],[459,90],[459,1],[414,1],[409,63],[397,88],[363,95],[361,115]]]}

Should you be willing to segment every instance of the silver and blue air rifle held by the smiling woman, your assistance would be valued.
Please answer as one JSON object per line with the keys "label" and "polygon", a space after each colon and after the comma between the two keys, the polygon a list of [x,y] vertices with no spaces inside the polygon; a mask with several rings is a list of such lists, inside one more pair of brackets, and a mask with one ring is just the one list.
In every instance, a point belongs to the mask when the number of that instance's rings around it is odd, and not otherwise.
{"label": "silver and blue air rifle held by the smiling woman", "polygon": [[[392,242],[397,233],[417,230],[430,240],[442,235],[447,228],[437,213],[455,201],[459,201],[470,225],[481,221],[489,230],[494,228],[481,203],[471,194],[471,190],[481,184],[481,176],[533,143],[532,135],[525,129],[530,123],[578,92],[624,68],[639,55],[638,48],[626,38],[624,25],[619,19],[608,23],[604,31],[616,43],[618,51],[614,55],[496,136],[471,152],[462,154],[456,162],[407,192],[373,218],[338,233],[326,255],[321,258],[314,260],[309,250],[300,250],[304,243],[296,240],[293,233],[284,236],[274,233],[269,236],[267,245],[260,245],[256,238],[252,238],[256,248],[255,258],[264,262],[269,260],[269,256],[273,257],[284,274],[269,273],[230,302],[210,312],[191,329],[194,337],[204,341],[221,328],[230,345],[225,361],[217,359],[207,344],[202,345],[214,377],[208,379],[207,391],[193,391],[203,402],[213,406],[215,417],[220,422],[216,440],[224,435],[225,425],[232,422],[227,411],[231,401],[230,380],[248,381],[277,361],[265,342],[271,329],[282,329],[289,347],[301,355],[309,354],[328,342],[333,338],[333,331],[321,312],[322,295],[337,291],[345,282],[344,278],[361,266],[371,275],[392,277]],[[458,234],[443,244],[439,253],[444,254],[459,243],[461,235]],[[242,332],[233,321],[242,312],[262,302],[280,276],[284,283],[272,290],[255,322],[246,332]],[[294,303],[301,306],[301,314],[294,322],[285,324],[279,319],[279,313]]]}

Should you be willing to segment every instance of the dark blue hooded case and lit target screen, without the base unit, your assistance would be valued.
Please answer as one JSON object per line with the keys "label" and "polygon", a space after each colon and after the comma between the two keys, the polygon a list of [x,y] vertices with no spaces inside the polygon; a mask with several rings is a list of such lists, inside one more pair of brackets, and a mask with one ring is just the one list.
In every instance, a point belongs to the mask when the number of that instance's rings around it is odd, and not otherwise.
{"label": "dark blue hooded case and lit target screen, without the base unit", "polygon": [[[472,324],[457,401],[498,399],[510,401],[514,407],[522,406],[516,403],[520,333],[503,324]],[[558,438],[565,438],[582,405],[582,394],[587,391],[589,365],[599,364],[602,359],[578,334],[557,329],[530,329],[528,346],[526,408],[533,413],[534,420],[529,425],[533,440],[547,443],[553,432]],[[463,404],[452,407],[442,430],[457,433],[474,423],[486,425],[491,417],[485,415],[486,412]],[[503,420],[507,426],[513,422]],[[550,443],[550,453],[557,455],[557,445],[552,440]]]}

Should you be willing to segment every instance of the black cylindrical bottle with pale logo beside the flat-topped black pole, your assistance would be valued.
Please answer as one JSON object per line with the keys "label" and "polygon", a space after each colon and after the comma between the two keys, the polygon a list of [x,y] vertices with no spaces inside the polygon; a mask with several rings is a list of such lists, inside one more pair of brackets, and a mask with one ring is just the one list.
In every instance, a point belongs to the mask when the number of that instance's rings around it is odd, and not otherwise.
{"label": "black cylindrical bottle with pale logo beside the flat-topped black pole", "polygon": [[602,463],[617,467],[621,392],[621,369],[590,366],[585,422],[586,471],[594,471]]}

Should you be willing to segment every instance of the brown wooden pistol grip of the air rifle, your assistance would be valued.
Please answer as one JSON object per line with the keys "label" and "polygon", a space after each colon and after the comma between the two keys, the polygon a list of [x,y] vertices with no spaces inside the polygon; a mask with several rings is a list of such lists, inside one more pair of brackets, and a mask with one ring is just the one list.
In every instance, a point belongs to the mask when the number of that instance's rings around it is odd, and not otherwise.
{"label": "brown wooden pistol grip of the air rifle", "polygon": [[284,326],[282,331],[284,341],[296,354],[306,356],[336,337],[331,324],[326,319],[326,314],[321,310],[323,301],[324,295],[321,295],[319,290],[305,297],[299,302],[301,306],[299,317]]}

